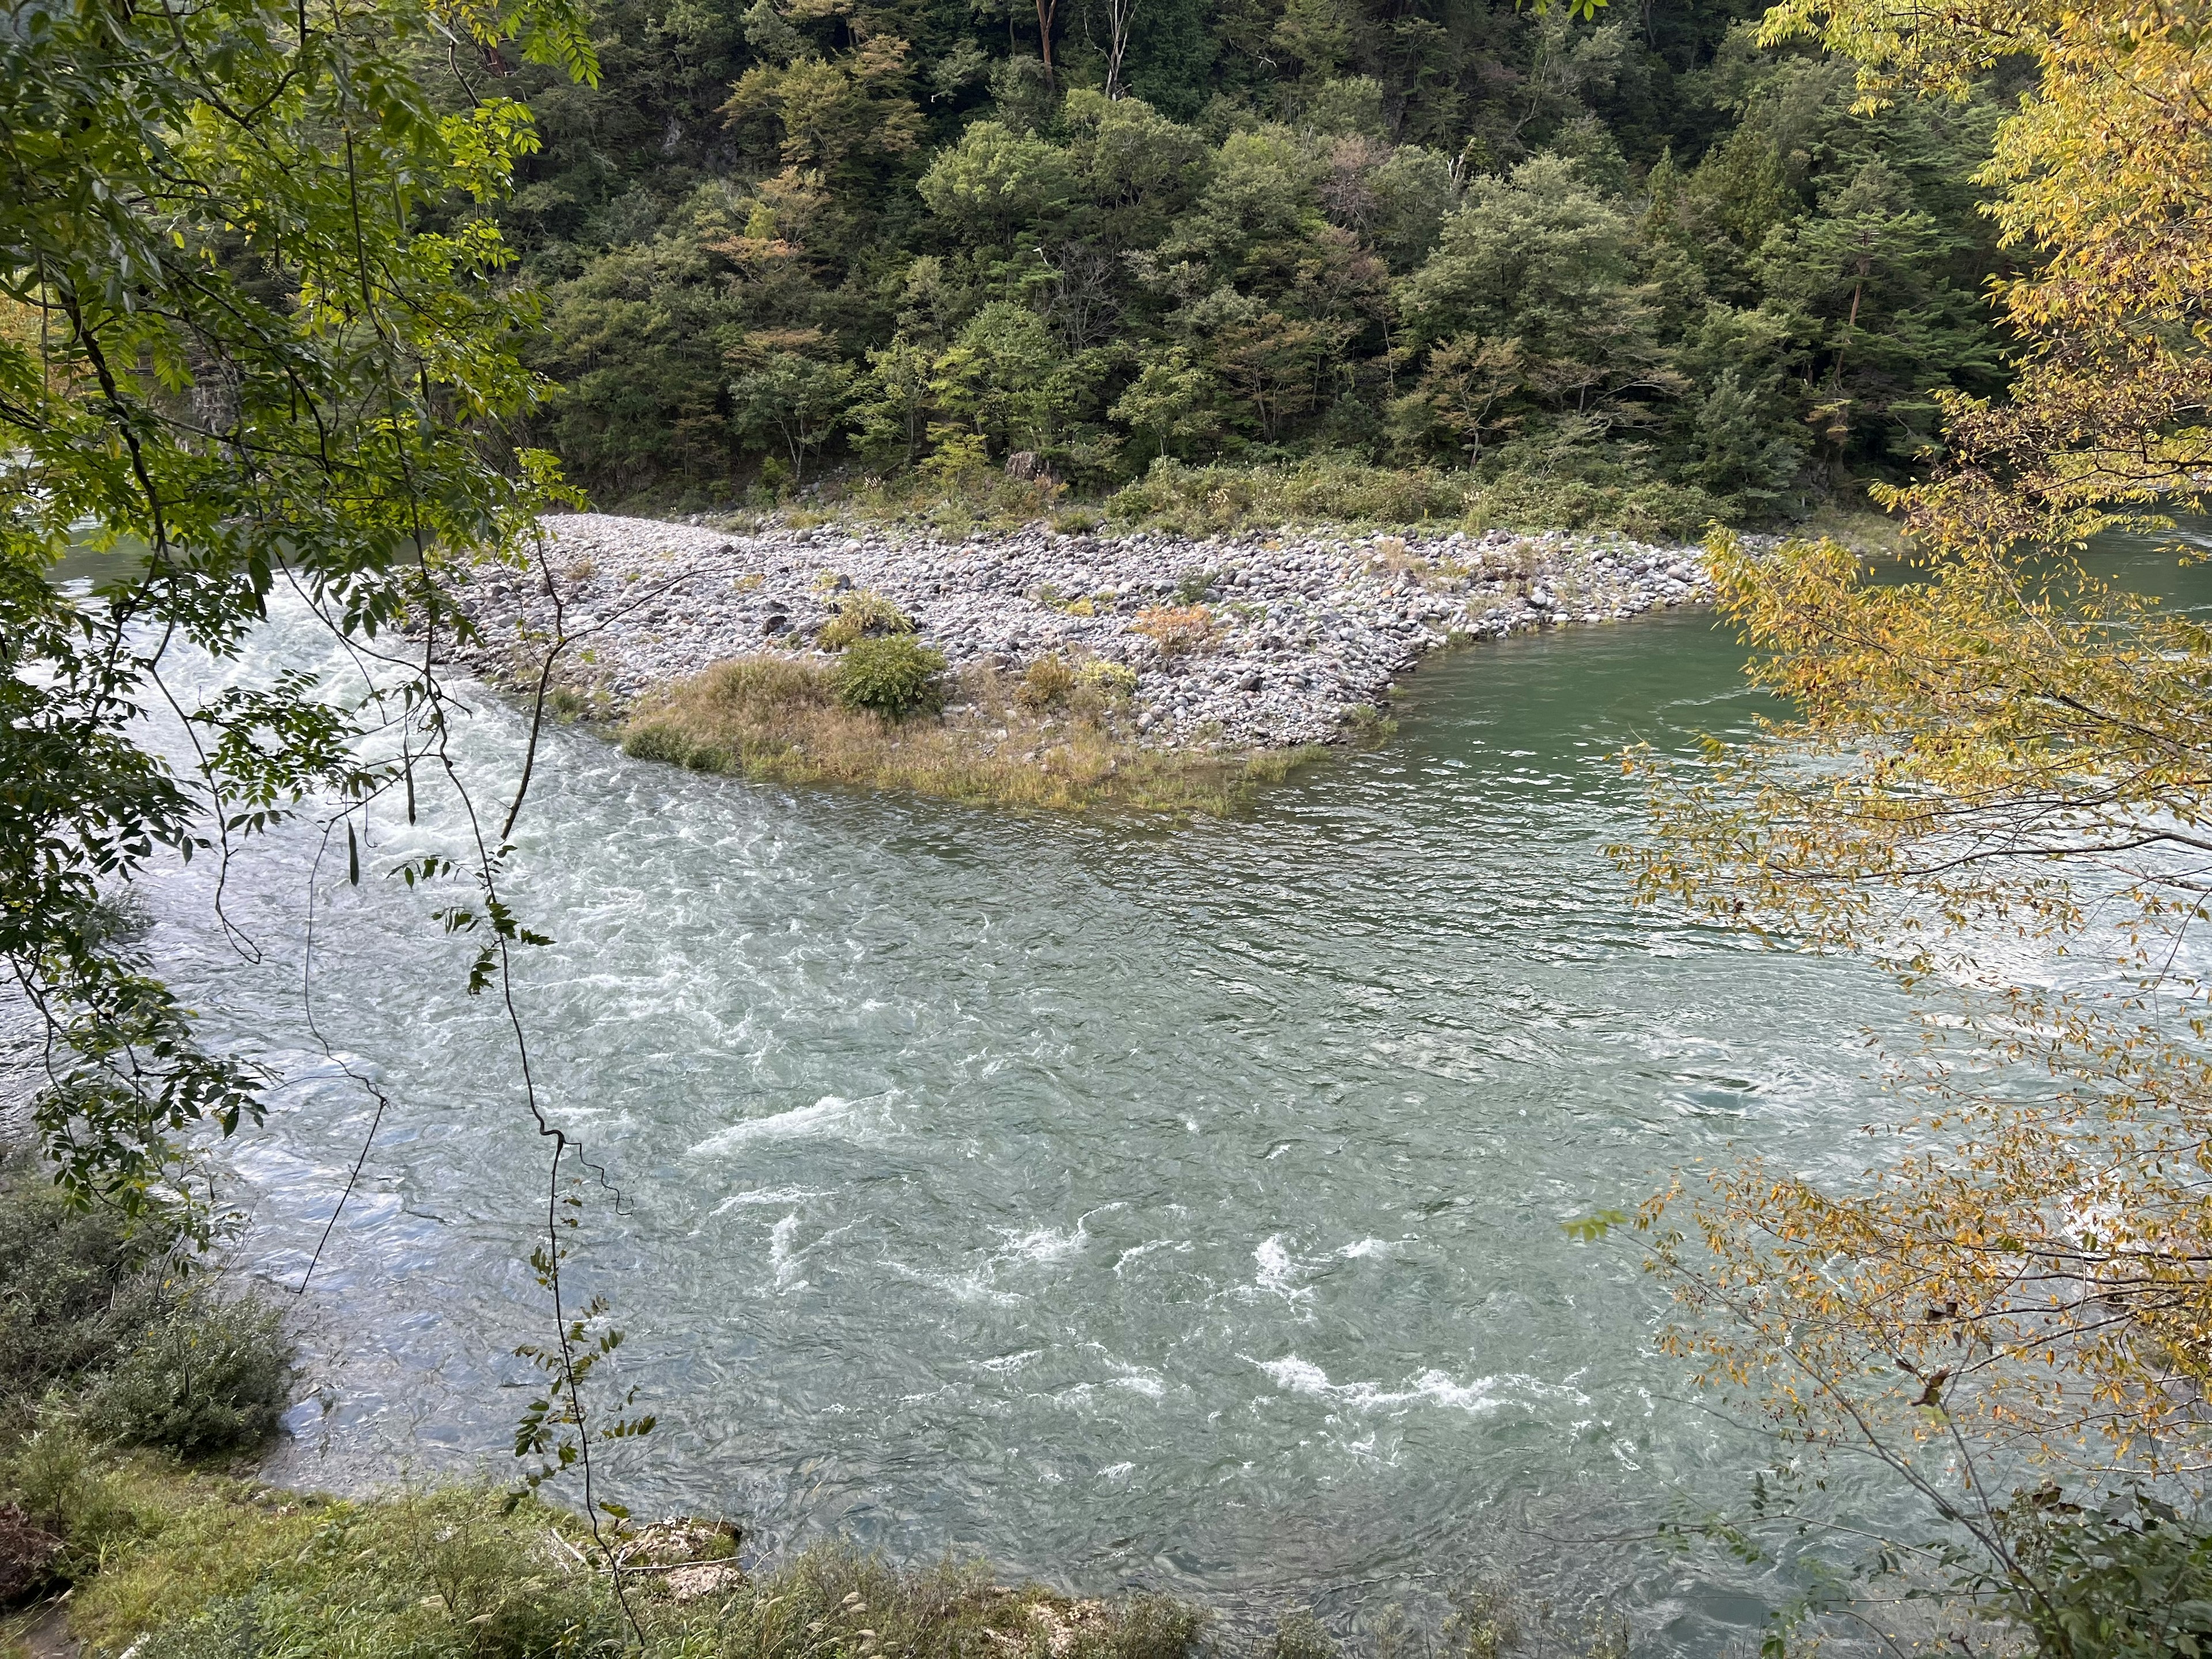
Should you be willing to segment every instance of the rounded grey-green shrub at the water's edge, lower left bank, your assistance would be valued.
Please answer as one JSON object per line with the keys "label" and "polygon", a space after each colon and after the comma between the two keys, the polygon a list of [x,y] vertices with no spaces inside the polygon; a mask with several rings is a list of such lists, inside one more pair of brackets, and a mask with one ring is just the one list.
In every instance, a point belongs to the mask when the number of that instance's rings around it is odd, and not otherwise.
{"label": "rounded grey-green shrub at the water's edge, lower left bank", "polygon": [[274,1307],[201,1290],[100,1383],[86,1422],[128,1444],[204,1458],[265,1440],[290,1376],[292,1343]]}

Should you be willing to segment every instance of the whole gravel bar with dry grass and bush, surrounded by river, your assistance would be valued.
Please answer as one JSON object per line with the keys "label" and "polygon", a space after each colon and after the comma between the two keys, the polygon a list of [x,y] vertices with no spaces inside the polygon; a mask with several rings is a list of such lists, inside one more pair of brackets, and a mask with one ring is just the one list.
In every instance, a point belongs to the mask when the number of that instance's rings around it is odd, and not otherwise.
{"label": "whole gravel bar with dry grass and bush, surrounded by river", "polygon": [[[964,803],[1228,814],[1387,737],[1440,648],[1703,604],[1699,549],[1374,526],[549,520],[460,661],[624,752]],[[863,684],[865,681],[865,684]]]}

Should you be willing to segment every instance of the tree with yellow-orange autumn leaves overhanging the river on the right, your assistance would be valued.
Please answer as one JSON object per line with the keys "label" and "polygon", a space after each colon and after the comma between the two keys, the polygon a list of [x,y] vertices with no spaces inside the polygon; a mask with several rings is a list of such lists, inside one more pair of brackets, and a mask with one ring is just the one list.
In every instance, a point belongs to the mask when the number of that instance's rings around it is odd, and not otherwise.
{"label": "tree with yellow-orange autumn leaves overhanging the river on the right", "polygon": [[1752,1159],[1639,1225],[1701,1378],[1887,1462],[2044,1652],[2205,1650],[2212,1546],[2159,1504],[2212,1462],[2212,630],[2077,553],[2212,489],[2212,9],[1767,15],[1807,33],[1867,100],[2033,60],[1980,177],[2026,257],[1995,292],[2017,378],[1949,396],[1933,476],[1885,491],[1911,580],[1717,538],[1792,714],[1697,768],[1632,757],[1661,836],[1619,856],[1646,902],[1869,953],[1936,1006],[1858,1183]]}

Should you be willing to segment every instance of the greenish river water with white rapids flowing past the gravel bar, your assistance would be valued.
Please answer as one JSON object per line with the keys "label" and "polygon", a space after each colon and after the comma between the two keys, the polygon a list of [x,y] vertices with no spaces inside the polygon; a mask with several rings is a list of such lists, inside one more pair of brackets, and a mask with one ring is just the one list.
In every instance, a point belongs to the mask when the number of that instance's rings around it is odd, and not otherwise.
{"label": "greenish river water with white rapids flowing past the gravel bar", "polygon": [[[323,650],[279,617],[237,672]],[[573,1279],[659,1413],[611,1491],[1091,1593],[1349,1617],[1495,1571],[1601,1593],[1639,1650],[1754,1635],[1774,1586],[1604,1540],[1739,1502],[1772,1447],[1652,1349],[1632,1250],[1562,1228],[1730,1148],[1867,1157],[1902,995],[1637,914],[1604,854],[1641,832],[1619,748],[1739,730],[1741,659],[1703,613],[1458,653],[1387,745],[1188,825],[555,732],[513,898],[557,942],[518,1006],[613,1188]],[[489,796],[522,723],[471,706]],[[511,1478],[544,1159],[440,898],[378,874],[458,834],[427,790],[356,889],[343,838],[312,874],[281,832],[230,872],[234,936],[204,865],[148,883],[161,967],[279,1077],[221,1155],[246,1272],[307,1270],[374,1113],[345,1066],[392,1099],[296,1303],[279,1478]]]}

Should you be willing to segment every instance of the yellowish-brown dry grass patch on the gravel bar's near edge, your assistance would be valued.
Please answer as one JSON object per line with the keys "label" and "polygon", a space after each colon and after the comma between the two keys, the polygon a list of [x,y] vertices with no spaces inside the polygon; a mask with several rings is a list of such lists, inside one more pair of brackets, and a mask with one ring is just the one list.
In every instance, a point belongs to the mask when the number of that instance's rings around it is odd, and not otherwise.
{"label": "yellowish-brown dry grass patch on the gravel bar's near edge", "polygon": [[[1053,661],[1053,659],[1046,659]],[[1327,750],[1139,748],[1113,686],[964,670],[940,710],[843,708],[830,664],[739,657],[641,708],[622,748],[646,761],[774,783],[852,783],[1053,810],[1230,814]],[[1068,670],[1064,670],[1068,672]]]}

